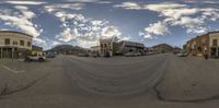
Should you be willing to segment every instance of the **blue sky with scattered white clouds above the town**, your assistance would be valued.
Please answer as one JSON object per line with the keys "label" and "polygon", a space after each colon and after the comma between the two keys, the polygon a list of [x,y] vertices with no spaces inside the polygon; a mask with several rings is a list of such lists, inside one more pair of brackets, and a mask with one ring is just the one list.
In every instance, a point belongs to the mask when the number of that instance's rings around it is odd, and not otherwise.
{"label": "blue sky with scattered white clouds above the town", "polygon": [[182,47],[219,31],[218,0],[1,0],[0,31],[32,35],[34,45],[84,48],[118,37]]}

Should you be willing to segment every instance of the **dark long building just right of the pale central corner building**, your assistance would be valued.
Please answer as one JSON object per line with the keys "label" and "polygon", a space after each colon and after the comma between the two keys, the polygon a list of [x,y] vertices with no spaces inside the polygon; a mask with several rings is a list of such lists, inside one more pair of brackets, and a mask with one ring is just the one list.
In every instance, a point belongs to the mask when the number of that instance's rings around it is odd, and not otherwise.
{"label": "dark long building just right of the pale central corner building", "polygon": [[135,41],[122,40],[117,44],[117,52],[125,55],[128,52],[136,52],[145,55],[145,45]]}

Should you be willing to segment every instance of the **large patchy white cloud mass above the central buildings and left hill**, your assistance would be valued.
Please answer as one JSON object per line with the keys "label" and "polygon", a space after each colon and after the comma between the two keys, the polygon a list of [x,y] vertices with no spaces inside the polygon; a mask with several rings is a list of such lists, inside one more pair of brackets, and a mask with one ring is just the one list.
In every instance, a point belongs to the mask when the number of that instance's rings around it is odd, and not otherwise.
{"label": "large patchy white cloud mass above the central buildings and left hill", "polygon": [[[51,10],[56,10],[57,7],[54,8],[55,9]],[[61,22],[60,28],[62,31],[56,36],[56,39],[59,41],[73,41],[81,47],[89,48],[97,45],[99,39],[101,38],[110,38],[114,36],[124,38],[119,29],[110,25],[108,21],[85,17],[82,14],[67,12],[64,10],[45,10],[50,14],[54,14]]]}

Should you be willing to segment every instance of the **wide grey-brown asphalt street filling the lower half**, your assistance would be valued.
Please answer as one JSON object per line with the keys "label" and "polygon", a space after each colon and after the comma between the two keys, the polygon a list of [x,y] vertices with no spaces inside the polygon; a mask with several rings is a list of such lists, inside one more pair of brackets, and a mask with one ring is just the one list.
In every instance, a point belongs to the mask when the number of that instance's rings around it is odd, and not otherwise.
{"label": "wide grey-brown asphalt street filling the lower half", "polygon": [[[9,71],[22,72],[10,74],[25,74],[34,83],[21,91],[2,95],[0,107],[217,107],[218,64],[217,60],[154,55],[130,58],[58,56],[45,63],[20,64],[26,68],[9,67],[7,70],[1,67],[2,75]],[[31,70],[34,65],[38,67]]]}

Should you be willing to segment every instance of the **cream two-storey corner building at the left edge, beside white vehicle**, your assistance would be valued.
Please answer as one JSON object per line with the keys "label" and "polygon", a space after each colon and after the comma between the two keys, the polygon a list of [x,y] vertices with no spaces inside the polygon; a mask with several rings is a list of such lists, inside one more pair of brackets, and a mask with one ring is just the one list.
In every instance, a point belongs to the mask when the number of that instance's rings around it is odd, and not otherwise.
{"label": "cream two-storey corner building at the left edge, beside white vehicle", "polygon": [[12,31],[0,31],[0,58],[19,58],[31,53],[32,36]]}

